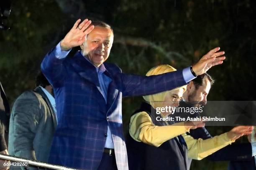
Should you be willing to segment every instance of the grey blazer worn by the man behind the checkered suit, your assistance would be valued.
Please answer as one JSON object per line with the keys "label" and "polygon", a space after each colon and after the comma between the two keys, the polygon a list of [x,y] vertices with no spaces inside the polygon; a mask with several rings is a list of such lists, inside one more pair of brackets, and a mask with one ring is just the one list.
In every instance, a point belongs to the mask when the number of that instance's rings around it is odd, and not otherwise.
{"label": "grey blazer worn by the man behind the checkered suit", "polygon": [[54,109],[43,90],[23,92],[10,116],[9,154],[48,162],[56,125]]}

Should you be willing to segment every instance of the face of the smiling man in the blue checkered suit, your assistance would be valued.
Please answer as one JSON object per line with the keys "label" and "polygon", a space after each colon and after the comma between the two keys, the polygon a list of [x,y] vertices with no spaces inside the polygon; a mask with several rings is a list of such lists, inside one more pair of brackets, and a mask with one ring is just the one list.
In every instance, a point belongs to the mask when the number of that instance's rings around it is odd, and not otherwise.
{"label": "face of the smiling man in the blue checkered suit", "polygon": [[95,27],[81,45],[82,53],[93,65],[99,67],[108,59],[113,40],[114,35],[110,28]]}

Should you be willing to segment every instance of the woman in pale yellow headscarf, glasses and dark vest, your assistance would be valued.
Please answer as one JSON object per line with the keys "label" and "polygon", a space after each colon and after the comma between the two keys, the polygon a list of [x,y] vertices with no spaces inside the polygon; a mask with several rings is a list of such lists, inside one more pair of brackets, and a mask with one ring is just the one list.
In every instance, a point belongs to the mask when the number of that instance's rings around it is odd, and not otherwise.
{"label": "woman in pale yellow headscarf, glasses and dark vest", "polygon": [[[176,71],[170,65],[159,65],[148,71],[146,76]],[[203,122],[159,121],[169,112],[156,114],[157,107],[179,105],[186,86],[143,96],[141,104],[131,117],[127,138],[129,169],[131,170],[187,170],[187,158],[201,160],[221,148],[233,143],[242,135],[250,134],[251,126],[238,126],[211,139],[194,139],[186,133],[202,127]],[[158,118],[157,118],[158,117]],[[171,125],[172,124],[172,125]]]}

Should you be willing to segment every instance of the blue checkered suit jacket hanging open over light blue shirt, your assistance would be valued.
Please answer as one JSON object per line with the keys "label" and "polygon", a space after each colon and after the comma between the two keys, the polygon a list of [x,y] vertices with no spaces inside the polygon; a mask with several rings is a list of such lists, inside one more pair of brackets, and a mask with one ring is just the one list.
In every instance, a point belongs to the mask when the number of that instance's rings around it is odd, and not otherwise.
{"label": "blue checkered suit jacket hanging open over light blue shirt", "polygon": [[42,72],[54,87],[58,117],[49,163],[97,169],[109,125],[118,170],[128,170],[122,97],[149,95],[186,84],[182,71],[146,77],[124,74],[114,64],[104,62],[104,65],[104,74],[113,80],[108,87],[107,103],[95,67],[81,52],[57,59],[51,51],[41,63]]}

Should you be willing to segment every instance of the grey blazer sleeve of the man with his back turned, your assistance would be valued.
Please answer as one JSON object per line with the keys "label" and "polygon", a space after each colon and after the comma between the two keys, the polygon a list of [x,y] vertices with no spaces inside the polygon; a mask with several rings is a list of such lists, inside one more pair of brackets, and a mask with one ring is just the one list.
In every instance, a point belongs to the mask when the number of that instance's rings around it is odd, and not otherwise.
{"label": "grey blazer sleeve of the man with his back turned", "polygon": [[40,103],[36,99],[18,99],[13,105],[14,131],[12,135],[15,156],[36,160],[33,140],[40,122]]}

